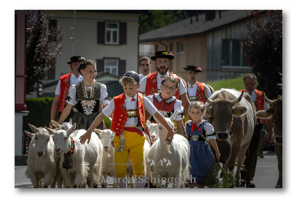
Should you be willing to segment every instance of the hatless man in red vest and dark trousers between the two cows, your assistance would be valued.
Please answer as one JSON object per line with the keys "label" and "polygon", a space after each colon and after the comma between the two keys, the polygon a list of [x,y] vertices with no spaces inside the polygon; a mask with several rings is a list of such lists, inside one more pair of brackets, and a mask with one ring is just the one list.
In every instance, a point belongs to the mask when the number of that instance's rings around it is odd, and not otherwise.
{"label": "hatless man in red vest and dark trousers between the two cows", "polygon": [[[259,90],[256,90],[256,85],[257,85],[256,76],[254,74],[245,75],[244,84],[246,88],[244,91],[250,95],[252,101],[255,103],[256,110],[259,111],[259,110],[268,109],[269,105],[264,100],[262,92],[260,92]],[[274,139],[274,134],[273,134],[271,119],[266,119],[266,123],[269,128],[269,134],[267,139],[269,143],[272,143]],[[263,119],[258,118],[251,141],[247,149],[247,153],[246,153],[246,160],[244,163],[244,165],[246,166],[246,171],[243,171],[243,170],[241,171],[241,178],[242,178],[241,187],[246,186],[247,188],[255,188],[255,184],[252,182],[252,180],[256,169],[258,148],[259,148],[262,127],[263,127]]]}

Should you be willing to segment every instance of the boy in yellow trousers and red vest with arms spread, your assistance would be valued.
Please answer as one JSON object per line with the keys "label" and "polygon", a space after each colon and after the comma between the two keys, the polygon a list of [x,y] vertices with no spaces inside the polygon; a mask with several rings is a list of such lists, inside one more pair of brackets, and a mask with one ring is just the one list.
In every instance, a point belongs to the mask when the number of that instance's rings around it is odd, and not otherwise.
{"label": "boy in yellow trousers and red vest with arms spread", "polygon": [[[139,74],[135,71],[126,72],[119,80],[123,86],[124,94],[114,97],[110,103],[96,117],[88,131],[80,137],[81,144],[90,142],[93,130],[105,118],[112,115],[110,130],[114,137],[114,162],[115,175],[119,179],[120,188],[127,188],[126,168],[128,156],[133,166],[133,174],[136,178],[135,188],[145,187],[144,173],[144,143],[145,137],[142,132],[145,125],[145,111],[154,115],[156,119],[168,130],[167,138],[173,138],[174,131],[165,118],[157,111],[155,106],[137,92],[139,88]],[[117,152],[119,150],[119,152]]]}

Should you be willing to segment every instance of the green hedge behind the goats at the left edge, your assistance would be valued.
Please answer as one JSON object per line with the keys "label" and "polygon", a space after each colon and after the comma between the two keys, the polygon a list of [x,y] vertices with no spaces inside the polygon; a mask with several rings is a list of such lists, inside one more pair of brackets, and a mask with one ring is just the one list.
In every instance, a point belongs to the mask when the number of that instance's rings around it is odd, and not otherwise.
{"label": "green hedge behind the goats at the left edge", "polygon": [[30,113],[24,116],[23,130],[29,130],[28,123],[36,127],[49,126],[50,108],[53,98],[27,98],[27,110]]}

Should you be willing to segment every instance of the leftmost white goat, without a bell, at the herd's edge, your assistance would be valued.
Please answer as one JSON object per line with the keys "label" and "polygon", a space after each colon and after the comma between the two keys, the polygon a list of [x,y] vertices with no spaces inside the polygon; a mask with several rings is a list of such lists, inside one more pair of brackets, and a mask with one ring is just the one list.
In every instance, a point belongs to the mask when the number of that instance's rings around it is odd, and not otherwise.
{"label": "leftmost white goat, without a bell, at the herd's edge", "polygon": [[[35,132],[26,134],[32,139],[28,149],[27,169],[25,174],[31,179],[34,188],[62,187],[62,178],[58,170],[58,157],[54,156],[54,144],[51,136],[44,128],[36,128],[29,124]],[[43,181],[42,181],[43,180]],[[42,184],[43,183],[43,184]]]}

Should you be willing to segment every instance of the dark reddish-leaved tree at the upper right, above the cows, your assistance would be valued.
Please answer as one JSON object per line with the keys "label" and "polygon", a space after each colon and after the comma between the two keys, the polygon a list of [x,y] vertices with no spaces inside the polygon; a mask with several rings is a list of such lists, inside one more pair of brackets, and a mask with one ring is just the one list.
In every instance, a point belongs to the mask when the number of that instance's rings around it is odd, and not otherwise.
{"label": "dark reddish-leaved tree at the upper right, above the cows", "polygon": [[252,11],[251,15],[249,33],[243,42],[244,55],[257,77],[257,89],[276,99],[282,94],[278,86],[282,83],[282,10]]}

